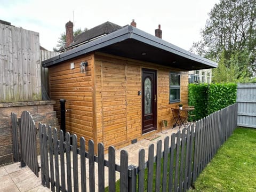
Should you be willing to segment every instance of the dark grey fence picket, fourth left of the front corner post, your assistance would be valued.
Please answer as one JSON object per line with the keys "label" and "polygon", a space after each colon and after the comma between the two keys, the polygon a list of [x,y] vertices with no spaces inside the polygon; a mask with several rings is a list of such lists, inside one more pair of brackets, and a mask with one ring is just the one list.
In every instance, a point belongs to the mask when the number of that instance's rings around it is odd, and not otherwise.
{"label": "dark grey fence picket, fourth left of the front corner post", "polygon": [[89,140],[89,186],[90,191],[95,191],[95,174],[94,174],[94,142]]}

